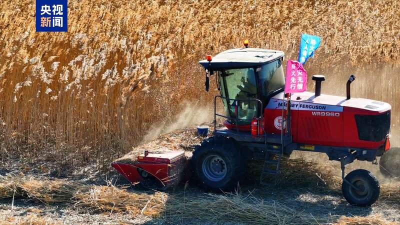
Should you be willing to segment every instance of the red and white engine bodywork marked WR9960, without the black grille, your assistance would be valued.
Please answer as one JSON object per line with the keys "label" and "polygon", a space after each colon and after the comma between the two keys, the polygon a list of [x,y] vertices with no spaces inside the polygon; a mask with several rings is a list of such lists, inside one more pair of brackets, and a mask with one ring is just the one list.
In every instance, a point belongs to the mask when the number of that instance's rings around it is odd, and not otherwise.
{"label": "red and white engine bodywork marked WR9960, without the black grille", "polygon": [[[282,99],[283,92],[271,97],[264,108],[264,129],[267,133],[281,133]],[[290,101],[293,142],[370,149],[377,149],[385,144],[386,139],[381,141],[358,139],[354,115],[377,115],[387,112],[391,110],[388,103],[364,98],[347,100],[346,97],[328,94],[315,97],[313,92],[307,91],[292,94]],[[368,104],[376,108],[366,108]],[[284,114],[286,113],[284,110]],[[225,126],[228,129],[235,129],[235,125],[226,121]],[[250,125],[241,125],[238,128],[241,131],[251,130]]]}

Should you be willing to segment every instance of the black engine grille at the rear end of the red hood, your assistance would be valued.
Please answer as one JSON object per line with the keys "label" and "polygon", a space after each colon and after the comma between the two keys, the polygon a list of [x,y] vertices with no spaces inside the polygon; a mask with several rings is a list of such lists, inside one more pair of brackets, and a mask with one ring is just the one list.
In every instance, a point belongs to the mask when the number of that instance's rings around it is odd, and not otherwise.
{"label": "black engine grille at the rear end of the red hood", "polygon": [[390,111],[379,115],[355,115],[358,139],[383,140],[390,131]]}

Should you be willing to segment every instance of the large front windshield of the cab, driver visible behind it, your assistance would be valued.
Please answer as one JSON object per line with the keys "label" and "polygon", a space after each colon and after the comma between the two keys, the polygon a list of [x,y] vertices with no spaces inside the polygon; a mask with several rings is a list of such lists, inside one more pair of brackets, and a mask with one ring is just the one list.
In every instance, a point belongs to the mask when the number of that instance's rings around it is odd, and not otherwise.
{"label": "large front windshield of the cab, driver visible behind it", "polygon": [[[230,117],[242,119],[240,124],[248,124],[256,116],[257,88],[253,68],[226,69],[219,71],[221,94],[230,98],[223,101],[225,111]],[[235,101],[239,107],[235,110]],[[237,115],[236,115],[237,113]],[[233,122],[233,121],[230,121]]]}

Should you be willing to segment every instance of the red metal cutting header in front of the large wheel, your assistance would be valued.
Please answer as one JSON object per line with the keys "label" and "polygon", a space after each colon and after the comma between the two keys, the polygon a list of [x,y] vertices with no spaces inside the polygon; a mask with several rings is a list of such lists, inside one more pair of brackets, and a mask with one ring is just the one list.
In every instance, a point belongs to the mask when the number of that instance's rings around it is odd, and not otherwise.
{"label": "red metal cutting header in front of the large wheel", "polygon": [[[112,162],[114,167],[131,183],[145,183],[146,179],[156,179],[160,187],[166,187],[177,183],[181,179],[181,172],[186,160],[183,151],[173,151],[166,153],[149,153],[137,156],[137,163],[129,164],[125,162]],[[143,177],[138,170],[144,170],[150,175]]]}

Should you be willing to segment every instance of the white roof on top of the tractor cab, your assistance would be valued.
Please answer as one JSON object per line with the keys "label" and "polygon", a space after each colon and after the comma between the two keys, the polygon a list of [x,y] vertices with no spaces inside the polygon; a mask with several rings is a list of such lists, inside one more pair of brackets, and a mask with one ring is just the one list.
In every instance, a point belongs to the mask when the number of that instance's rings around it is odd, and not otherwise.
{"label": "white roof on top of the tractor cab", "polygon": [[233,48],[212,57],[211,63],[201,60],[205,69],[245,68],[266,64],[283,57],[283,51],[262,48]]}

